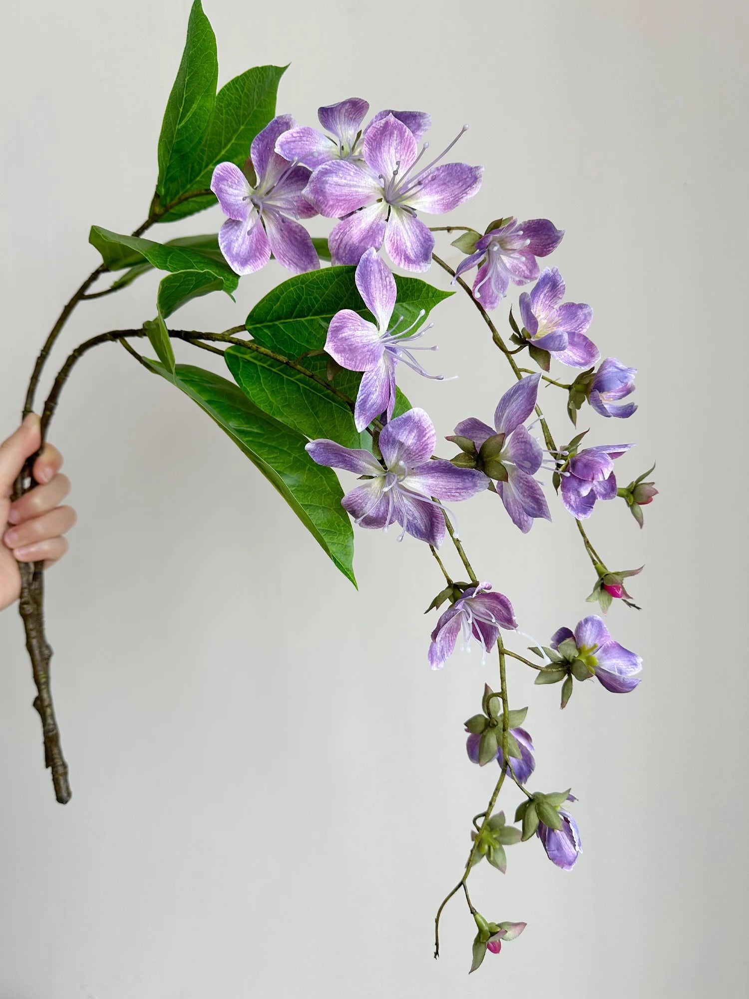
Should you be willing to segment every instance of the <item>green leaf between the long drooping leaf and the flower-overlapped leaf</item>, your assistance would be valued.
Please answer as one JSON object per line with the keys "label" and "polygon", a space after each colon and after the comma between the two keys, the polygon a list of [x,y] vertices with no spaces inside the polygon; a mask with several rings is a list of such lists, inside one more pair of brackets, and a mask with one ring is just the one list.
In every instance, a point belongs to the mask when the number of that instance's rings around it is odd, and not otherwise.
{"label": "green leaf between the long drooping leaf and the flower-overlapped leaf", "polygon": [[234,380],[264,413],[308,438],[329,438],[360,448],[351,408],[289,365],[244,347],[224,355]]}

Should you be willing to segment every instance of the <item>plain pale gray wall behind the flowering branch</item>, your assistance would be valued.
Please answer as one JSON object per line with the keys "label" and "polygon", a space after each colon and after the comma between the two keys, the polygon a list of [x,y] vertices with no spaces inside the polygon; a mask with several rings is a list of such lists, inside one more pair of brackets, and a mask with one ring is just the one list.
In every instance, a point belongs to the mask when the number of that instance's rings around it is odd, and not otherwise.
{"label": "plain pale gray wall behind the flowering branch", "polygon": [[[561,713],[558,688],[510,665],[513,704],[530,704],[534,786],[572,784],[585,852],[572,874],[535,841],[511,850],[505,877],[477,869],[480,908],[528,929],[468,979],[472,929],[455,899],[434,962],[434,909],[492,783],[465,759],[460,722],[494,661],[456,654],[429,672],[422,610],[439,576],[423,546],[360,531],[357,593],[192,403],[102,348],[52,435],[80,512],[48,599],[67,808],[41,766],[20,621],[0,618],[0,996],[743,996],[743,5],[206,8],[222,80],[291,61],[279,111],[313,123],[351,94],[424,108],[433,147],[468,121],[460,156],[486,173],[455,221],[516,213],[566,229],[553,263],[570,298],[593,305],[604,356],[640,369],[631,421],[586,413],[582,426],[598,443],[637,441],[624,483],[658,460],[645,530],[618,502],[590,523],[611,565],[647,563],[632,587],[644,609],[610,613],[643,682],[628,697],[577,689]],[[95,266],[89,225],[129,232],[147,213],[188,10],[6,8],[3,433],[43,335]],[[213,211],[154,235],[219,224]],[[236,306],[203,299],[181,324],[240,323],[283,276],[272,265]],[[156,281],[84,305],[52,369],[86,336],[152,316]],[[441,435],[488,416],[511,379],[467,301],[434,319],[432,368],[460,378],[403,385]],[[539,637],[590,609],[573,521],[554,515],[527,537],[489,496],[460,516],[481,576]]]}

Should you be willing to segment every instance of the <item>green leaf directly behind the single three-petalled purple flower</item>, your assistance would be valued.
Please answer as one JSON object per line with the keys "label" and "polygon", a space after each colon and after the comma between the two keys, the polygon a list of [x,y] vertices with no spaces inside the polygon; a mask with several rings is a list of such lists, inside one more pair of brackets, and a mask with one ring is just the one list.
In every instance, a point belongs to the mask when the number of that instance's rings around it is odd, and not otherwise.
{"label": "green leaf directly behind the single three-petalled purple flower", "polygon": [[[308,351],[325,346],[331,320],[342,309],[351,309],[373,321],[355,283],[354,267],[327,267],[290,278],[270,292],[255,306],[245,324],[253,340],[277,354],[296,359]],[[421,310],[429,312],[451,292],[417,278],[395,276],[397,300],[393,316],[403,319],[398,329],[415,322]]]}

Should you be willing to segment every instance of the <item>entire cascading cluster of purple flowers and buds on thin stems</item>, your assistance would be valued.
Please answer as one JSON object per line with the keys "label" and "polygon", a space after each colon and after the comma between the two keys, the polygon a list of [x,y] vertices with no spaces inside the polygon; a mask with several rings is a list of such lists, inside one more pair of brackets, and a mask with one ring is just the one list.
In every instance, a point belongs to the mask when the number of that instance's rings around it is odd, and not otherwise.
{"label": "entire cascading cluster of purple flowers and buds on thin stems", "polygon": [[[514,526],[527,533],[535,520],[551,519],[549,497],[537,478],[544,470],[562,505],[576,519],[595,567],[596,584],[588,599],[597,600],[603,611],[615,599],[635,606],[623,580],[639,569],[608,570],[587,539],[582,521],[590,517],[597,500],[618,496],[642,526],[641,507],[653,500],[657,490],[653,483],[644,482],[649,472],[626,489],[617,487],[614,462],[632,444],[582,448],[584,431],[557,448],[539,407],[539,390],[543,385],[565,390],[573,424],[585,404],[596,417],[628,419],[637,407],[623,401],[634,391],[636,369],[615,358],[600,360],[588,335],[592,309],[585,303],[565,301],[566,286],[558,268],[540,270],[538,259],[557,249],[562,230],[548,219],[518,222],[514,217],[494,220],[483,234],[457,227],[464,232],[453,246],[465,254],[464,259],[454,270],[439,258],[433,259],[450,272],[453,284],[459,282],[473,297],[516,381],[499,399],[492,424],[475,417],[457,422],[445,440],[457,447],[458,454],[449,460],[436,456],[436,432],[427,414],[402,404],[396,414],[398,399],[402,400],[396,388],[401,365],[426,378],[442,378],[427,373],[414,356],[417,351],[436,350],[418,344],[431,324],[423,325],[425,309],[417,315],[415,310],[401,313],[398,309],[399,286],[381,253],[386,252],[392,264],[407,272],[428,270],[434,236],[421,216],[450,212],[471,198],[481,185],[482,168],[443,162],[467,126],[439,156],[429,159],[425,155],[428,143],[419,149],[431,124],[427,114],[385,110],[366,121],[369,111],[368,102],[361,98],[322,107],[323,131],[299,126],[290,116],[280,115],[254,140],[244,171],[220,164],[212,182],[227,215],[220,246],[239,274],[263,267],[271,254],[301,274],[319,268],[320,261],[300,220],[317,214],[337,220],[329,238],[331,260],[334,266],[356,266],[354,278],[362,306],[335,313],[327,325],[322,351],[312,353],[327,355],[330,378],[341,370],[352,373],[346,377],[348,386],[356,386],[354,424],[367,447],[350,448],[318,439],[310,441],[306,450],[318,465],[359,477],[359,484],[342,500],[359,526],[387,530],[397,523],[401,528],[398,539],[407,533],[431,546],[446,586],[428,609],[448,604],[431,631],[427,652],[431,668],[444,665],[458,637],[463,650],[475,640],[482,663],[495,646],[499,652],[501,689],[494,692],[486,686],[481,712],[465,722],[468,758],[479,766],[496,761],[500,775],[487,811],[474,819],[471,853],[461,884],[464,887],[467,872],[483,857],[503,873],[505,846],[531,837],[540,840],[556,866],[570,870],[581,852],[577,823],[568,808],[575,798],[569,790],[526,789],[535,771],[535,749],[523,727],[527,708],[512,710],[507,704],[506,657],[532,666],[538,684],[561,682],[562,707],[569,701],[573,680],[595,677],[609,691],[633,690],[640,681],[642,660],[614,641],[595,615],[580,620],[574,631],[559,628],[548,646],[534,645],[531,650],[542,664],[509,649],[501,632],[508,637],[522,633],[512,603],[473,574],[458,540],[454,516],[444,504],[493,493]],[[469,287],[462,275],[474,268]],[[519,294],[520,325],[509,312],[510,349],[489,313],[499,307],[511,286],[531,284]],[[406,313],[409,322],[404,320]],[[513,355],[521,351],[527,351],[538,371],[519,367]],[[571,384],[548,377],[552,362],[578,369]],[[470,581],[453,581],[437,554],[447,533]],[[515,813],[521,828],[507,825],[503,812],[491,813],[505,778],[525,795]],[[476,821],[479,818],[481,822]],[[473,971],[487,951],[498,953],[501,941],[519,935],[525,924],[487,921],[472,906],[471,912],[478,930]]]}

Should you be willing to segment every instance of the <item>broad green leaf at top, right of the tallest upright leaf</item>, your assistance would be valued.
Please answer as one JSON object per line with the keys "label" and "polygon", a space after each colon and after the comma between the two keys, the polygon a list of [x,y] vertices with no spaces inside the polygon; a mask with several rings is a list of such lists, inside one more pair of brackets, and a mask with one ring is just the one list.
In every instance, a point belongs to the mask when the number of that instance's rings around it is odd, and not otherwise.
{"label": "broad green leaf at top, right of the tallest upright leaf", "polygon": [[[161,205],[168,205],[190,191],[206,190],[219,163],[243,166],[250,155],[253,139],[276,114],[276,95],[285,69],[282,66],[256,66],[222,87],[203,132],[200,136],[197,130],[193,133],[194,138],[200,140],[199,144],[188,159],[175,161],[175,170],[157,187]],[[215,80],[213,86],[216,94]],[[185,129],[189,128],[190,122],[186,122]],[[200,212],[215,201],[213,195],[190,199],[159,221],[174,222]]]}

